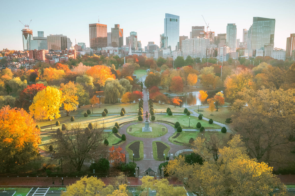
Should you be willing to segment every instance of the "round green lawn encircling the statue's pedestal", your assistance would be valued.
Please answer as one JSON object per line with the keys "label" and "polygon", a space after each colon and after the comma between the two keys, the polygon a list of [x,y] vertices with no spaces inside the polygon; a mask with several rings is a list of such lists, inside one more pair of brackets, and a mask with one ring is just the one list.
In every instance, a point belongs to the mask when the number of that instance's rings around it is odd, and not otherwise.
{"label": "round green lawn encircling the statue's pedestal", "polygon": [[142,132],[142,127],[144,127],[144,126],[145,126],[145,123],[140,123],[140,124],[136,124],[136,125],[130,125],[127,128],[127,133],[130,134],[130,135],[133,135],[135,137],[157,138],[157,137],[160,137],[162,135],[165,135],[168,132],[168,130],[167,130],[167,128],[165,126],[154,124],[154,123],[150,124],[150,127],[152,128],[153,131],[151,131],[151,132]]}

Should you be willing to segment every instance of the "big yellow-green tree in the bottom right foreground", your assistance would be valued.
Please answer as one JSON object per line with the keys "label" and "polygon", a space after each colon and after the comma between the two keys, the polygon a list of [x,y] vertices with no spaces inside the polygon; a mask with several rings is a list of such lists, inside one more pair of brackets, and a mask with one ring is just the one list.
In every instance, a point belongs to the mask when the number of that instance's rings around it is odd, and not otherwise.
{"label": "big yellow-green tree in the bottom right foreground", "polygon": [[197,138],[194,152],[204,160],[203,165],[190,165],[178,156],[169,161],[166,172],[183,181],[187,190],[199,195],[268,195],[278,188],[286,195],[286,188],[266,163],[257,163],[248,157],[239,135],[233,136],[228,147],[219,148],[217,160],[206,148],[205,139]]}

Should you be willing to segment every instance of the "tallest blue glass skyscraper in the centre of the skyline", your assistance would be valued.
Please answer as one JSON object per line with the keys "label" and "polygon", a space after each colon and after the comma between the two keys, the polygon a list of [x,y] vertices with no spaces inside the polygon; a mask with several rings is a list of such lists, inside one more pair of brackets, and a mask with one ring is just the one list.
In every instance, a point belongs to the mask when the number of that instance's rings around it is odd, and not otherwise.
{"label": "tallest blue glass skyscraper in the centre of the skyline", "polygon": [[171,48],[174,51],[179,42],[179,16],[173,14],[165,14],[164,19],[164,48]]}

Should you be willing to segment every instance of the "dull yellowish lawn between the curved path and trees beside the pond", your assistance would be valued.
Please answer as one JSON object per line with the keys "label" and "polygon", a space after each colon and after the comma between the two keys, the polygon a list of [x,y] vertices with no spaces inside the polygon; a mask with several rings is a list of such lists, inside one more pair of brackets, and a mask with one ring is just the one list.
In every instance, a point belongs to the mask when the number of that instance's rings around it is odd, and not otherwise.
{"label": "dull yellowish lawn between the curved path and trees beside the pond", "polygon": [[[203,117],[205,118],[212,118],[214,121],[217,121],[219,123],[224,123],[224,124],[228,124],[225,123],[225,120],[227,118],[231,118],[231,115],[235,114],[235,112],[230,109],[230,107],[218,107],[218,112],[216,111],[216,109],[214,109],[214,111],[212,112],[211,115],[211,111],[209,110],[209,108],[200,108],[200,110],[203,110],[203,112],[199,112],[201,114],[203,114]],[[198,108],[194,109],[194,111],[196,113],[198,113]]]}

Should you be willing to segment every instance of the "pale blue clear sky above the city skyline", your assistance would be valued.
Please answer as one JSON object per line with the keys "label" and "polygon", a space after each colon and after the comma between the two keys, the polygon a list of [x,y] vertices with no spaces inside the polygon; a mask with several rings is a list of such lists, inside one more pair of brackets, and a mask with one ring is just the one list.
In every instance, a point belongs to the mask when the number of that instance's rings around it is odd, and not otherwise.
{"label": "pale blue clear sky above the city skyline", "polygon": [[49,34],[63,34],[89,47],[89,24],[106,24],[108,32],[114,24],[123,28],[125,37],[131,31],[137,32],[142,48],[148,41],[160,44],[164,33],[165,13],[180,16],[180,36],[189,36],[192,26],[205,26],[209,30],[226,33],[227,23],[237,26],[237,39],[242,41],[243,29],[249,29],[253,17],[276,19],[274,47],[286,49],[286,38],[295,33],[294,0],[244,0],[244,1],[20,1],[1,0],[0,7],[0,50],[3,48],[23,50],[22,29],[30,24],[33,36],[37,31]]}

